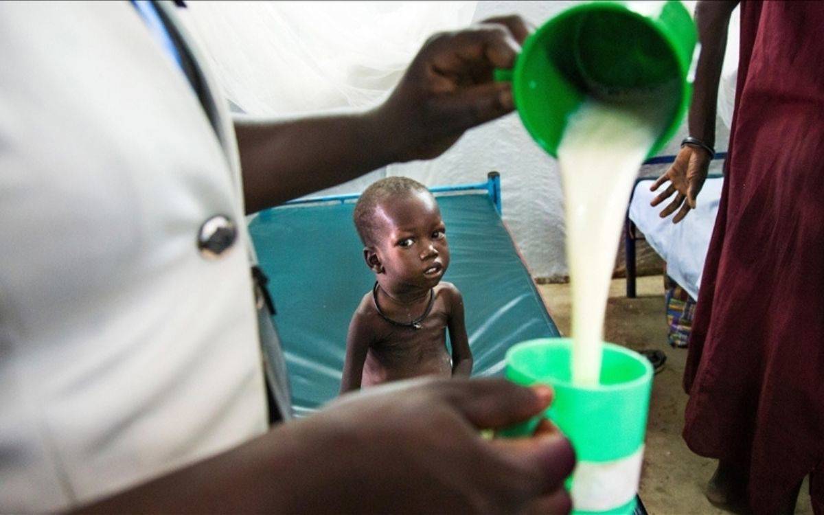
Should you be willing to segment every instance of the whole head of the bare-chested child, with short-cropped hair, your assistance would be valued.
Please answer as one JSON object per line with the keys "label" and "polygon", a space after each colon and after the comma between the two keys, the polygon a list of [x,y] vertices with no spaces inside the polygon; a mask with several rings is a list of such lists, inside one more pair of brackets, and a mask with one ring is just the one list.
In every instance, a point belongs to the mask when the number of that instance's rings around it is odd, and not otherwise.
{"label": "whole head of the bare-chested child, with short-cropped hair", "polygon": [[382,284],[431,288],[447,271],[449,246],[441,210],[419,182],[378,180],[361,194],[353,218],[363,257]]}

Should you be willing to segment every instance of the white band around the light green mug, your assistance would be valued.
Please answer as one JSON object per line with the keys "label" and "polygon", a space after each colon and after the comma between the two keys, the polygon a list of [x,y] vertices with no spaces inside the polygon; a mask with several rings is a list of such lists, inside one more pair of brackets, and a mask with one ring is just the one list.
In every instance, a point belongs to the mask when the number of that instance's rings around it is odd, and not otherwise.
{"label": "white band around the light green mug", "polygon": [[570,492],[574,508],[605,512],[629,503],[638,491],[643,461],[643,445],[620,460],[578,461]]}

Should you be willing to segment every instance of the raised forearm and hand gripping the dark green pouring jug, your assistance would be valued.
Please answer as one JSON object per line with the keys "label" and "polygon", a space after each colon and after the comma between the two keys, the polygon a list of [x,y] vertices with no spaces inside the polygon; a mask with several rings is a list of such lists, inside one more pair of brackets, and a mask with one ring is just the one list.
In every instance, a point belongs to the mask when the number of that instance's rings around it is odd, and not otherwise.
{"label": "raised forearm and hand gripping the dark green pouring jug", "polygon": [[372,110],[293,119],[235,119],[249,213],[337,185],[392,162],[437,157],[467,129],[513,110],[511,68],[528,34],[494,18],[430,38],[387,100]]}

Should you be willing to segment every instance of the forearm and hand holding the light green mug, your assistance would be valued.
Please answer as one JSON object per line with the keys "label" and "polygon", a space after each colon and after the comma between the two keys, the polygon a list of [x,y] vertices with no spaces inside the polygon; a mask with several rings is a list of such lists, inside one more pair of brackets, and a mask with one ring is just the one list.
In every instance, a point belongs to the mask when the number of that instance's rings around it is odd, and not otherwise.
{"label": "forearm and hand holding the light green mug", "polygon": [[551,397],[503,379],[394,382],[78,513],[568,513],[569,441],[478,431]]}

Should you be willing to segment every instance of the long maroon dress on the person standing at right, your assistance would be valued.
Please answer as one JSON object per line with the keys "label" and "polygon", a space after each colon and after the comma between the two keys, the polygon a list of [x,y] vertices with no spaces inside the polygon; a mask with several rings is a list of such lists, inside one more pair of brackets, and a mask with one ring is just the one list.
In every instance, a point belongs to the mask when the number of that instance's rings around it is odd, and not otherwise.
{"label": "long maroon dress on the person standing at right", "polygon": [[684,438],[701,456],[748,469],[756,513],[775,513],[811,473],[824,513],[824,2],[741,8]]}

